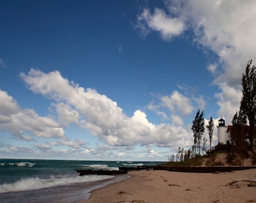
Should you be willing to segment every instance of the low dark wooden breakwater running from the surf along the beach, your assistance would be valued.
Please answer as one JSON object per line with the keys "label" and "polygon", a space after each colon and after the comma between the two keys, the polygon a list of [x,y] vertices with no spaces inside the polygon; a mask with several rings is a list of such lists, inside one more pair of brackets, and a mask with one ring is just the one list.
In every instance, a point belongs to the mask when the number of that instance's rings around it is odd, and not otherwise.
{"label": "low dark wooden breakwater running from the surf along the beach", "polygon": [[119,170],[76,170],[81,176],[88,174],[99,175],[116,175],[127,174],[128,171],[142,171],[142,170],[164,170],[176,172],[190,172],[190,173],[218,173],[241,171],[256,168],[256,166],[164,166],[164,165],[143,165],[138,167],[119,167]]}

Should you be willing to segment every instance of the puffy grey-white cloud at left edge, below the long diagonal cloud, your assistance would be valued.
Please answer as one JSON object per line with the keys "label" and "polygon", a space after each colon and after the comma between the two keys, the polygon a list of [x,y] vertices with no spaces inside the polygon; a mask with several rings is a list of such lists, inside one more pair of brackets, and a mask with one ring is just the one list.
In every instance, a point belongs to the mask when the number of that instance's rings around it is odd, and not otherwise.
{"label": "puffy grey-white cloud at left edge, below the long diagonal cloud", "polygon": [[26,141],[32,140],[30,135],[38,138],[65,137],[58,123],[38,116],[32,109],[21,109],[7,92],[0,90],[0,100],[0,129]]}

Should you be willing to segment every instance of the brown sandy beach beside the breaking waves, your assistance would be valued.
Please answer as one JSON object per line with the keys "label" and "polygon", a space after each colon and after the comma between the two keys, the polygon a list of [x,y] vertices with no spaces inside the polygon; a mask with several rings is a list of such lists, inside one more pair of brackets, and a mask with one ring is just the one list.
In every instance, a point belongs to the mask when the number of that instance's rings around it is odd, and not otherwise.
{"label": "brown sandy beach beside the breaking waves", "polygon": [[128,180],[91,192],[84,203],[102,202],[256,202],[256,187],[231,180],[256,179],[256,169],[218,174],[131,171]]}

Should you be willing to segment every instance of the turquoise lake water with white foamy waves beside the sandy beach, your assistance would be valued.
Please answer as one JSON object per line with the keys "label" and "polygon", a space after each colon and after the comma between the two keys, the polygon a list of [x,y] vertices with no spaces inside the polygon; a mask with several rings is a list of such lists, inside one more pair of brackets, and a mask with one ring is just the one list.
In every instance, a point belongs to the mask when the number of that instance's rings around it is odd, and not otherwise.
{"label": "turquoise lake water with white foamy waves beside the sandy beach", "polygon": [[78,202],[90,191],[128,175],[79,176],[76,169],[118,170],[118,167],[161,162],[0,159],[0,202]]}

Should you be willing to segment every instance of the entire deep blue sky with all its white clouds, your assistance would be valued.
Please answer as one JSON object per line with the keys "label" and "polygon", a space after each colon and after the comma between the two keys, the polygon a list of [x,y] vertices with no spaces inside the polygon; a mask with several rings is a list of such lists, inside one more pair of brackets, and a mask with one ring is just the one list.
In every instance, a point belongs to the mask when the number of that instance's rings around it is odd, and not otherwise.
{"label": "entire deep blue sky with all its white clouds", "polygon": [[[0,1],[0,158],[168,161],[230,125],[256,1]],[[208,139],[206,130],[204,137]]]}

